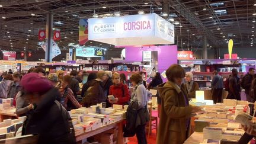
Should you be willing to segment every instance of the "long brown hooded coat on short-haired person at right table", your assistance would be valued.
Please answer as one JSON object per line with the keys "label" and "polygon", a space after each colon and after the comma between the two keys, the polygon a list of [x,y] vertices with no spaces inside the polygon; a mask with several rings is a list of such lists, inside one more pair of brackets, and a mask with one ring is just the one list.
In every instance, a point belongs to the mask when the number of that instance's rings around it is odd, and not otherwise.
{"label": "long brown hooded coat on short-haired person at right table", "polygon": [[[178,88],[173,82],[166,82],[158,86],[162,98],[161,114],[156,143],[181,144],[187,139],[187,120],[190,119],[192,108],[185,107],[185,99],[181,91],[187,96],[185,85]],[[188,129],[188,132],[190,130]]]}

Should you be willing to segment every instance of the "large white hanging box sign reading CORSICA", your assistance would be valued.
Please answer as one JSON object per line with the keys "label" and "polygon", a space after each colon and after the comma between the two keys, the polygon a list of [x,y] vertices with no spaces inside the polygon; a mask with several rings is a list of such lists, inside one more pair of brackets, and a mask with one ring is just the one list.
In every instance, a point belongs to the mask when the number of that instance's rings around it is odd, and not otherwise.
{"label": "large white hanging box sign reading CORSICA", "polygon": [[115,46],[174,44],[174,25],[157,14],[90,18],[89,40]]}

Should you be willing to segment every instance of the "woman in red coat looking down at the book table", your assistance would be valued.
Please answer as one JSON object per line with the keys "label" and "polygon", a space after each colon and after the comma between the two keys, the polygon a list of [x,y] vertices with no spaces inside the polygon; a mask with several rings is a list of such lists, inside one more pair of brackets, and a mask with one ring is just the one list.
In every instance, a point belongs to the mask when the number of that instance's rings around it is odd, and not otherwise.
{"label": "woman in red coat looking down at the book table", "polygon": [[111,104],[125,105],[130,101],[130,93],[127,85],[120,81],[119,73],[113,73],[113,85],[110,86],[110,95],[114,95],[114,100],[108,99]]}

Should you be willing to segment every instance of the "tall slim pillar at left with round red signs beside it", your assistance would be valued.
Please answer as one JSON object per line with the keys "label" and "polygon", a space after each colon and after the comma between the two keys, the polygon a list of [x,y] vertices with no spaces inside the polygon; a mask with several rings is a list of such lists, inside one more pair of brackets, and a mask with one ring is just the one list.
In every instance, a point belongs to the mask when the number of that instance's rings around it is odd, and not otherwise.
{"label": "tall slim pillar at left with round red signs beside it", "polygon": [[45,60],[46,62],[52,62],[52,46],[53,46],[53,14],[50,12],[47,14],[46,20],[46,52],[45,52]]}

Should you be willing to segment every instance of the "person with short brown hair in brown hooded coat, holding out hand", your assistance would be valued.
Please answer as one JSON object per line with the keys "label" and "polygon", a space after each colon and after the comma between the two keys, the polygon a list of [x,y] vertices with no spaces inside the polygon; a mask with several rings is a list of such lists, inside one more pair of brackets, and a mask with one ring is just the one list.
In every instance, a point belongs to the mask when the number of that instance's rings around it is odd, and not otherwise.
{"label": "person with short brown hair in brown hooded coat, holding out hand", "polygon": [[166,75],[168,82],[158,85],[162,103],[156,143],[182,144],[189,136],[191,113],[201,108],[188,104],[187,89],[182,84],[185,71],[180,65],[171,65]]}

